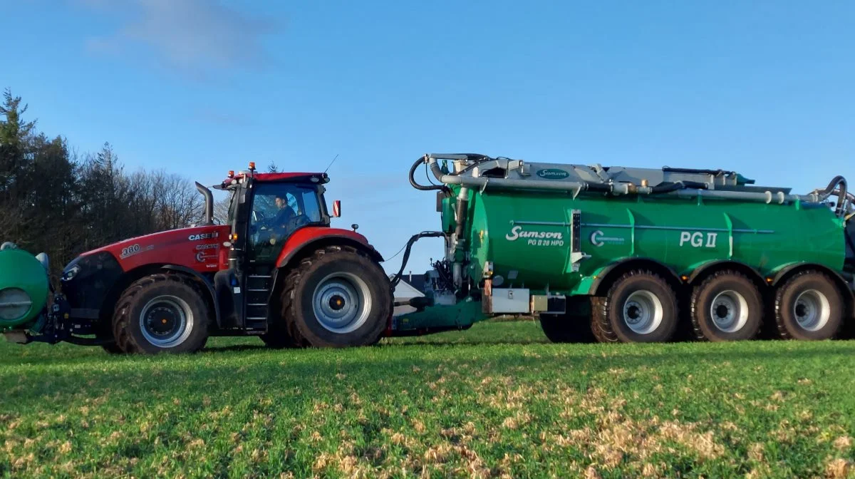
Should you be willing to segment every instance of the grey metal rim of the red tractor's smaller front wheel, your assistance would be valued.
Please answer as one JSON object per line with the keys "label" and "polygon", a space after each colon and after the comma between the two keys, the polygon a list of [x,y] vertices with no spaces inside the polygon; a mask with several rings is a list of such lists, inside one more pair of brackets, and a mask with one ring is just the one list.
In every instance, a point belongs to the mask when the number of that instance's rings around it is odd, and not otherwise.
{"label": "grey metal rim of the red tractor's smaller front wheel", "polygon": [[158,347],[179,346],[193,330],[193,312],[184,299],[158,296],[139,314],[145,340]]}

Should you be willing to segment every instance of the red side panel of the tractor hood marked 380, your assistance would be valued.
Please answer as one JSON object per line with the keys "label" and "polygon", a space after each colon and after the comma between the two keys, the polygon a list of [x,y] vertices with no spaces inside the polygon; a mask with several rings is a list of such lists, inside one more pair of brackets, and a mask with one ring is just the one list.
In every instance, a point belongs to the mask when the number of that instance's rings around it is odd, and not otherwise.
{"label": "red side panel of the tractor hood marked 380", "polygon": [[230,232],[227,225],[173,229],[125,239],[81,256],[107,251],[124,271],[148,264],[172,264],[199,273],[215,272],[220,269],[220,250]]}

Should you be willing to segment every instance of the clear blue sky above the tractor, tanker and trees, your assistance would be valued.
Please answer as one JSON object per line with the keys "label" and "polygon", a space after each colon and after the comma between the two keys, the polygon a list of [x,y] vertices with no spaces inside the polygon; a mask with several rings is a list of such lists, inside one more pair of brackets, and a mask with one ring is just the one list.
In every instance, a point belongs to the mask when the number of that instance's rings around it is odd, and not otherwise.
{"label": "clear blue sky above the tractor, tanker and trees", "polygon": [[[213,184],[322,170],[386,256],[425,152],[855,180],[852,2],[4,0],[0,87],[79,151]],[[5,70],[5,71],[4,71]],[[442,255],[423,239],[414,272]],[[398,269],[401,256],[386,263]]]}

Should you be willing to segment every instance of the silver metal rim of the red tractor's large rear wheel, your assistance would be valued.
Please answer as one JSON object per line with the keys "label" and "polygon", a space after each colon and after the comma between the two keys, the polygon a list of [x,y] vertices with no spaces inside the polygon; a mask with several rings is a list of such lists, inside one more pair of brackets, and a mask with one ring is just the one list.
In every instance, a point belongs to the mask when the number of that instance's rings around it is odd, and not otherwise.
{"label": "silver metal rim of the red tractor's large rear wheel", "polygon": [[371,311],[369,286],[357,275],[327,275],[312,295],[312,310],[321,326],[337,334],[361,327]]}

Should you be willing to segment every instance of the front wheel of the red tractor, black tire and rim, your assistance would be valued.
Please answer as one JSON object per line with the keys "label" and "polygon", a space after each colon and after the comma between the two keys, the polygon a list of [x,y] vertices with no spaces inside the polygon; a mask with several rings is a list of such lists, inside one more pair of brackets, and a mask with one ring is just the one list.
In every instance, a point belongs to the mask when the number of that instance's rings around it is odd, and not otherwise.
{"label": "front wheel of the red tractor, black tire and rim", "polygon": [[[157,312],[165,316],[160,332],[154,330]],[[143,322],[149,326],[144,327]],[[208,340],[209,325],[209,307],[196,281],[185,275],[156,274],[133,282],[121,294],[113,316],[113,336],[116,346],[129,353],[197,352]],[[159,334],[164,336],[161,344],[157,343]],[[175,334],[174,341],[168,342]]]}

